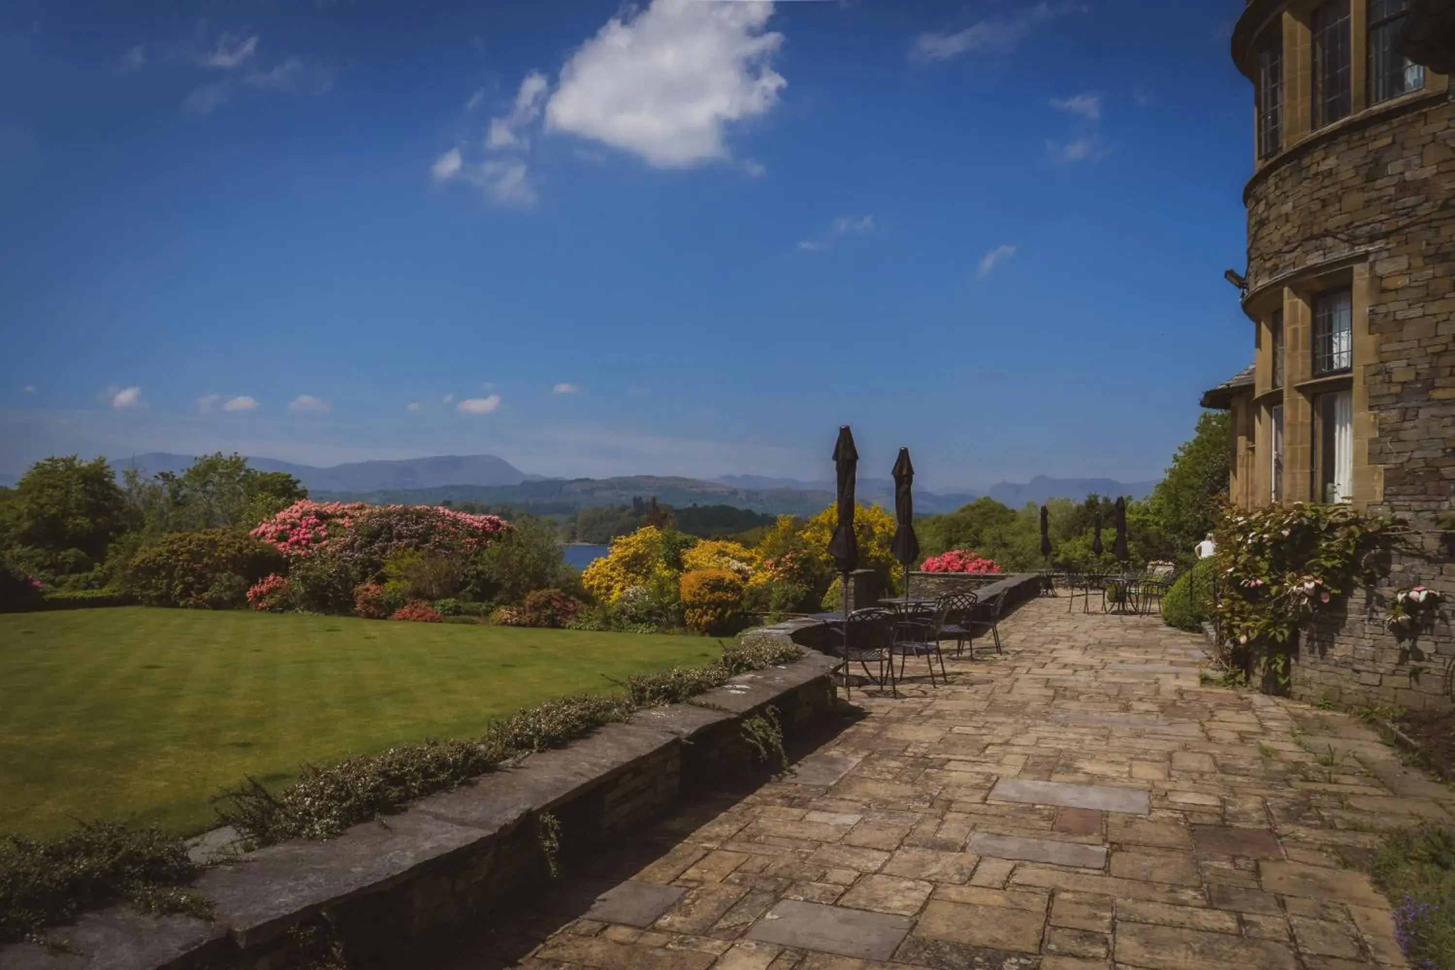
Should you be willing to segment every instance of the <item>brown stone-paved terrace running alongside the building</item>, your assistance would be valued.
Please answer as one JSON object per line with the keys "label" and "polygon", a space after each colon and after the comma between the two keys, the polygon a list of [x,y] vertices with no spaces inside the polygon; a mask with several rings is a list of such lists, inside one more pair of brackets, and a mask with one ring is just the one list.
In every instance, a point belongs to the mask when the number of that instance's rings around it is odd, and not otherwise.
{"label": "brown stone-paved terrace running alongside the building", "polygon": [[789,774],[666,819],[434,966],[1406,966],[1359,865],[1455,791],[1347,716],[1203,684],[1202,640],[1158,618],[1037,599],[1001,638],[949,686],[856,691]]}

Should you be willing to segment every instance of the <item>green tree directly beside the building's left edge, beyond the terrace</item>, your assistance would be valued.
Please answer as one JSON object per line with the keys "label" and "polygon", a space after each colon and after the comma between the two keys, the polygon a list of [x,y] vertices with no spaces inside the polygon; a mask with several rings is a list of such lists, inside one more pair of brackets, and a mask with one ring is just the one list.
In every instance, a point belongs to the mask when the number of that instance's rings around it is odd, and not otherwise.
{"label": "green tree directly beside the building's left edge, beyond the terrace", "polygon": [[1151,496],[1151,510],[1167,551],[1192,563],[1193,547],[1212,532],[1219,500],[1228,494],[1232,432],[1227,412],[1203,412],[1197,430],[1173,455],[1165,477]]}

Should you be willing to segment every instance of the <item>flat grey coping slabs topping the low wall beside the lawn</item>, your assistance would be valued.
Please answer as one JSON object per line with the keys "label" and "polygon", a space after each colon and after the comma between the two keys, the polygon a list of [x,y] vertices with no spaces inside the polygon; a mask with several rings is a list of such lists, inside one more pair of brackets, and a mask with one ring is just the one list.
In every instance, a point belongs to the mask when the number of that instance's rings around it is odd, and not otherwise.
{"label": "flat grey coping slabs topping the low wall beside the lawn", "polygon": [[336,839],[292,839],[242,854],[204,871],[189,887],[212,902],[212,922],[116,905],[51,931],[71,953],[35,944],[0,947],[0,970],[156,970],[268,944],[329,906],[387,891],[457,854],[479,851],[483,842],[602,785],[643,758],[741,720],[835,666],[831,657],[809,652],[786,666],[738,675],[691,704],[637,711],[626,723],[355,825]]}

